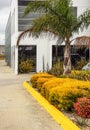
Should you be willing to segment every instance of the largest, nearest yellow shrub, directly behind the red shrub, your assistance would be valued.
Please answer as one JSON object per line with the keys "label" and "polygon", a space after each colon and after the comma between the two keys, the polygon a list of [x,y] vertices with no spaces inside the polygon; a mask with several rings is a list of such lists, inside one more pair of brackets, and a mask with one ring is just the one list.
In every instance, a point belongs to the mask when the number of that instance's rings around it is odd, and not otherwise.
{"label": "largest, nearest yellow shrub, directly behind the red shrub", "polygon": [[59,109],[72,110],[79,97],[90,98],[90,83],[71,80],[50,90],[49,101]]}

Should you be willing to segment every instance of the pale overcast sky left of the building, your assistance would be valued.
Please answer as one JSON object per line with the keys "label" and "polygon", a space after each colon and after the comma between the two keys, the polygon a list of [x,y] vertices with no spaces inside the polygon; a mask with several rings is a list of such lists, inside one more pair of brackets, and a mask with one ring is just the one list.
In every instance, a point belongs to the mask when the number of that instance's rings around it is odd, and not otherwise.
{"label": "pale overcast sky left of the building", "polygon": [[5,43],[5,28],[10,12],[11,0],[0,0],[0,44]]}

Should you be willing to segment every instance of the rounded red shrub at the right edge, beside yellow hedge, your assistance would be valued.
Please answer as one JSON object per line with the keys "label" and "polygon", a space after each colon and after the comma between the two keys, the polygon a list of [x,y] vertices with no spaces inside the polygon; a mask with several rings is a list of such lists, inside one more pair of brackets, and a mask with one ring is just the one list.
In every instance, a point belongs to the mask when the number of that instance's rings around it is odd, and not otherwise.
{"label": "rounded red shrub at the right edge, beside yellow hedge", "polygon": [[78,98],[74,103],[76,113],[82,118],[90,118],[90,99],[83,97]]}

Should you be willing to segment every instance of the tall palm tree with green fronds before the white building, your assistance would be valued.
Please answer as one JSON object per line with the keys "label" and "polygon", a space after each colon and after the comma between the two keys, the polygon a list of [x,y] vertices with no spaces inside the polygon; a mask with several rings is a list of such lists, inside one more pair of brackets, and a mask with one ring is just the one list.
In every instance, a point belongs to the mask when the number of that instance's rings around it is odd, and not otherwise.
{"label": "tall palm tree with green fronds before the white building", "polygon": [[71,0],[44,0],[30,2],[25,9],[25,15],[29,12],[43,12],[42,16],[32,22],[32,27],[18,37],[17,44],[22,36],[29,33],[29,36],[38,37],[43,32],[50,36],[57,37],[57,42],[65,43],[64,50],[64,74],[71,71],[70,44],[72,36],[83,31],[90,24],[90,10],[85,11],[78,18],[75,16]]}

